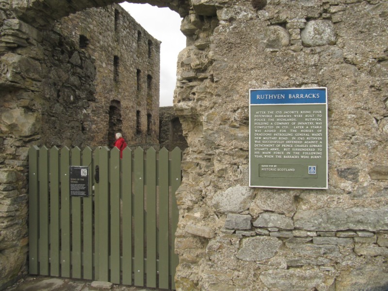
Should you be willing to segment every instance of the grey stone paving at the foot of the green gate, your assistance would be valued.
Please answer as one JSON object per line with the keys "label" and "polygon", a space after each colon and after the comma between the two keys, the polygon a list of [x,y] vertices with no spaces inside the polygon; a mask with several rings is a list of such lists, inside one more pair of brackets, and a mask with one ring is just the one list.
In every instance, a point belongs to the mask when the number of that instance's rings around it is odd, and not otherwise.
{"label": "grey stone paving at the foot of the green gate", "polygon": [[29,276],[19,280],[5,291],[158,291],[144,287],[114,285],[109,282],[98,282],[81,279],[68,279],[46,276]]}

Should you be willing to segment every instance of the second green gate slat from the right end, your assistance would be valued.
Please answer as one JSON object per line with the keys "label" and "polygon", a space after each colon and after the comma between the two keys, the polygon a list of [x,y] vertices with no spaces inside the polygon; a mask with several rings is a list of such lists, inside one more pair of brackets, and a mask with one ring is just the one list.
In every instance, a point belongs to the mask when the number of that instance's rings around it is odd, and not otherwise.
{"label": "second green gate slat from the right end", "polygon": [[169,289],[168,151],[159,151],[159,288]]}

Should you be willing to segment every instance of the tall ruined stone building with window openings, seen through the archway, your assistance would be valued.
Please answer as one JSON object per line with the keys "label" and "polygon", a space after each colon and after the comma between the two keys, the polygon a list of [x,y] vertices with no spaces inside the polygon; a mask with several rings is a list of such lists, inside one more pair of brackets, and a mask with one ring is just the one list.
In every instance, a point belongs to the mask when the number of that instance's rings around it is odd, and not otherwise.
{"label": "tall ruined stone building with window openings, seen through the archway", "polygon": [[129,146],[158,144],[160,41],[121,6],[63,17],[41,40],[29,65],[45,74],[42,144],[112,147],[115,132]]}

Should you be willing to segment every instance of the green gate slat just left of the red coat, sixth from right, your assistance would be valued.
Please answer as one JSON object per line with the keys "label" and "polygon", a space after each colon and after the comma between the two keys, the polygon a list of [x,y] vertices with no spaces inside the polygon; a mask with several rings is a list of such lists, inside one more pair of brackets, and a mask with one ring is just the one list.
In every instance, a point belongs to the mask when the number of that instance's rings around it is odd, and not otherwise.
{"label": "green gate slat just left of the red coat, sixth from right", "polygon": [[111,150],[111,280],[120,284],[120,150]]}

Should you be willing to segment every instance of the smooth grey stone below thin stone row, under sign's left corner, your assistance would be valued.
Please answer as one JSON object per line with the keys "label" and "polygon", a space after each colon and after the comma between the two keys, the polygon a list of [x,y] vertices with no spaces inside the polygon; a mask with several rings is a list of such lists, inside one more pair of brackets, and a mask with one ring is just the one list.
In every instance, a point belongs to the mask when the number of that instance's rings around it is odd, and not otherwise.
{"label": "smooth grey stone below thin stone row, under sign's left corner", "polygon": [[237,253],[237,258],[245,261],[260,261],[275,256],[282,245],[279,239],[271,237],[247,238],[242,241],[242,247]]}

